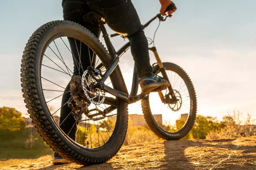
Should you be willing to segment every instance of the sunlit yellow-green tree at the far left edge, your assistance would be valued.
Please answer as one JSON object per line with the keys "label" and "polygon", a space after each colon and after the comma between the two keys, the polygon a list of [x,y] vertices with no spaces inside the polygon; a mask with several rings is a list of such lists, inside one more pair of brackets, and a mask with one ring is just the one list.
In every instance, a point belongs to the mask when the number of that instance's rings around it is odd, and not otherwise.
{"label": "sunlit yellow-green tree at the far left edge", "polygon": [[11,132],[23,130],[25,128],[24,118],[15,108],[0,108],[0,136],[2,140],[11,139]]}

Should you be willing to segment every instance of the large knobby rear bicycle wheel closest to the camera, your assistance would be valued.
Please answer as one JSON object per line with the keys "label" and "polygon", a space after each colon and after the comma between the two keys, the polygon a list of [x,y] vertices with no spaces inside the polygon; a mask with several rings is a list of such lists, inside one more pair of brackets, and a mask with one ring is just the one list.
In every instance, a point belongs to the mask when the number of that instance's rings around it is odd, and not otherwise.
{"label": "large knobby rear bicycle wheel closest to the camera", "polygon": [[[92,88],[110,63],[99,40],[70,21],[46,23],[28,40],[21,64],[24,101],[43,139],[67,160],[103,163],[123,144],[127,102]],[[127,93],[119,67],[105,84]]]}

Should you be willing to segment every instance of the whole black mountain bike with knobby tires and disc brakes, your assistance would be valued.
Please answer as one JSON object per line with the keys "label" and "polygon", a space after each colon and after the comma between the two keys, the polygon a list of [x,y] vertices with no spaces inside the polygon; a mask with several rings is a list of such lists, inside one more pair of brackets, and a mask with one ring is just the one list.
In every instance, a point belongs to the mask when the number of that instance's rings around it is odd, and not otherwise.
{"label": "whole black mountain bike with knobby tires and disc brakes", "polygon": [[[157,14],[143,29],[166,17]],[[43,139],[67,160],[84,165],[103,163],[120,150],[128,126],[128,105],[140,100],[146,123],[157,136],[166,140],[186,136],[196,117],[196,93],[186,72],[176,64],[162,62],[156,47],[150,47],[157,61],[153,72],[170,86],[159,92],[138,94],[139,78],[134,66],[129,94],[118,63],[130,43],[116,51],[110,37],[119,34],[109,36],[104,18],[96,20],[108,51],[89,30],[67,20],[40,26],[27,42],[21,86],[30,118]],[[76,49],[70,49],[70,43]],[[90,59],[86,68],[83,56]],[[74,68],[78,70],[75,74]],[[67,101],[61,101],[63,95],[69,97]],[[65,107],[71,111],[60,120]],[[60,127],[70,121],[70,116],[74,123],[65,132]],[[75,139],[70,137],[73,129]]]}

